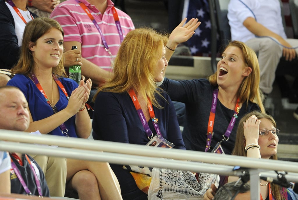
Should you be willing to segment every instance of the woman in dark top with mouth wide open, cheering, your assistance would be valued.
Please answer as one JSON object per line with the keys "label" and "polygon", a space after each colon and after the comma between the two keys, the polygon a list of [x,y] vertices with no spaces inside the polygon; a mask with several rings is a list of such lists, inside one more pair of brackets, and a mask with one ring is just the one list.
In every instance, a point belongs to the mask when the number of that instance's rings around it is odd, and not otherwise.
{"label": "woman in dark top with mouth wide open, cheering", "polygon": [[186,148],[231,154],[241,117],[253,110],[265,111],[259,82],[256,54],[238,41],[227,45],[217,64],[217,72],[207,79],[174,81],[165,78],[161,88],[172,101],[186,105],[182,134]]}

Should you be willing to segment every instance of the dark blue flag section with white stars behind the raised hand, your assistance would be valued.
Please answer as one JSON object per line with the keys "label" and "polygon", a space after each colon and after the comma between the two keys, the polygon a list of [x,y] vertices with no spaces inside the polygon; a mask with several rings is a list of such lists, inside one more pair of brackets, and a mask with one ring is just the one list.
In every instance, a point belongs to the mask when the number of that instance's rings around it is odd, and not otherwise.
{"label": "dark blue flag section with white stars behind the raised hand", "polygon": [[193,56],[209,56],[211,51],[211,21],[207,0],[189,0],[187,19],[198,18],[201,25],[186,43]]}

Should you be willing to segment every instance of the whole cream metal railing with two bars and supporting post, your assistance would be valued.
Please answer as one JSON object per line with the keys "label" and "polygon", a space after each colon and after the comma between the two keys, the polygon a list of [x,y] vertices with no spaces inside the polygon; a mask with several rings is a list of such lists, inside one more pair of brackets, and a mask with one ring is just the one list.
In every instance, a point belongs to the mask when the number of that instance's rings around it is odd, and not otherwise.
{"label": "whole cream metal railing with two bars and supporting post", "polygon": [[[107,133],[108,134],[108,133]],[[276,178],[274,171],[286,171],[287,181],[298,182],[296,162],[218,155],[181,149],[152,148],[143,145],[51,135],[28,135],[24,132],[0,129],[0,150],[48,156],[138,165],[186,171],[206,172],[225,176],[241,176],[241,166],[249,172],[251,199],[260,199],[260,176]],[[22,142],[22,143],[18,143]],[[25,144],[29,143],[29,144]],[[36,145],[46,144],[46,145]],[[58,145],[53,148],[47,145]],[[150,151],[148,150],[150,148]],[[167,159],[165,159],[167,158]]]}

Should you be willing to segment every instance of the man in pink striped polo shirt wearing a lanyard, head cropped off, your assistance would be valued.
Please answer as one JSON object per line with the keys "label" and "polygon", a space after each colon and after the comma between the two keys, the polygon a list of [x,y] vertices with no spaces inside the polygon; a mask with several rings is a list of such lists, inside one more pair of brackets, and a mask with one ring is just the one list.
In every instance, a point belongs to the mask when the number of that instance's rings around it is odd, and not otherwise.
{"label": "man in pink striped polo shirt wearing a lanyard, head cropped off", "polygon": [[64,30],[63,46],[82,51],[82,75],[100,84],[111,76],[111,62],[125,35],[134,29],[131,18],[111,0],[66,0],[51,16]]}

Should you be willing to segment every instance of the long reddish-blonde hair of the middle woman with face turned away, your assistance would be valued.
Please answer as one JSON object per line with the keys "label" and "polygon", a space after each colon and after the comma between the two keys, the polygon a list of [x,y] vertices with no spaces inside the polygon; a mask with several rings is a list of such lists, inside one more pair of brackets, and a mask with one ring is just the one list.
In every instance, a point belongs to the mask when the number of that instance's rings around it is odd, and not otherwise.
{"label": "long reddish-blonde hair of the middle woman with face turned away", "polygon": [[148,97],[153,105],[161,108],[154,97],[160,93],[156,89],[153,73],[167,40],[167,35],[150,28],[137,28],[129,32],[114,61],[113,77],[97,90],[93,101],[101,91],[122,93],[133,88],[140,96]]}

